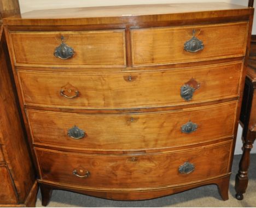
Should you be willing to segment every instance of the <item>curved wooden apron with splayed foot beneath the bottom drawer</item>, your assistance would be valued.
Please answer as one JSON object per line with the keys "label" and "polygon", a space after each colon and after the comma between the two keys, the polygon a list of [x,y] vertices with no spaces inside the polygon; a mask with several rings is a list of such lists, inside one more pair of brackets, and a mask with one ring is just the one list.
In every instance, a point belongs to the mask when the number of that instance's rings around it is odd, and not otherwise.
{"label": "curved wooden apron with splayed foot beneath the bottom drawer", "polygon": [[[154,199],[159,198],[165,195],[170,195],[174,193],[183,192],[188,189],[192,189],[199,186],[204,185],[212,185],[216,184],[218,188],[220,189],[220,194],[223,200],[228,200],[228,186],[229,179],[230,179],[231,173],[215,176],[207,180],[197,180],[187,183],[182,183],[181,186],[167,186],[167,187],[160,187],[160,188],[148,188],[146,190],[142,189],[136,189],[135,191],[129,191],[127,192],[125,189],[119,189],[118,191],[115,189],[108,189],[107,191],[97,190],[95,188],[83,188],[83,186],[79,185],[70,185],[68,183],[58,183],[58,182],[51,182],[51,181],[40,181],[40,187],[43,187],[43,189],[63,189],[66,191],[75,191],[77,193],[92,195],[94,197],[100,197],[105,199],[111,199],[111,200],[145,200],[145,199]],[[44,195],[46,199],[46,195]],[[49,198],[48,198],[49,199]],[[48,201],[46,201],[46,204]]]}

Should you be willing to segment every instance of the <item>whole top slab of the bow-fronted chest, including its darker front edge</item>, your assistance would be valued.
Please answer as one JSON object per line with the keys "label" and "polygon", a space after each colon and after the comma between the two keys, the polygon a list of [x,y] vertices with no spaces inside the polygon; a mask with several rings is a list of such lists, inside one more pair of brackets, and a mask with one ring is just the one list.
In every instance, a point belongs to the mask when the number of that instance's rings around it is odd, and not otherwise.
{"label": "whole top slab of the bow-fronted chest, including its darker front edge", "polygon": [[[213,15],[214,12],[214,15]],[[228,3],[127,5],[114,7],[36,10],[4,20],[5,25],[72,26],[135,24],[170,21],[177,25],[206,21],[248,20],[253,9]],[[210,21],[211,19],[211,21]]]}

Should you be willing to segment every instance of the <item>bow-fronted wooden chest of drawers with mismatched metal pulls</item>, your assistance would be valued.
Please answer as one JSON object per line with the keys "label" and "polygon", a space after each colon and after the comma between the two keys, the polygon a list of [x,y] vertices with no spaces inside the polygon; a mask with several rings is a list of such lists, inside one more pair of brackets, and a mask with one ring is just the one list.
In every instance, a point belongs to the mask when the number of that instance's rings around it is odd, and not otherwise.
{"label": "bow-fronted wooden chest of drawers with mismatched metal pulls", "polygon": [[4,20],[43,205],[51,190],[228,199],[253,9],[32,11]]}

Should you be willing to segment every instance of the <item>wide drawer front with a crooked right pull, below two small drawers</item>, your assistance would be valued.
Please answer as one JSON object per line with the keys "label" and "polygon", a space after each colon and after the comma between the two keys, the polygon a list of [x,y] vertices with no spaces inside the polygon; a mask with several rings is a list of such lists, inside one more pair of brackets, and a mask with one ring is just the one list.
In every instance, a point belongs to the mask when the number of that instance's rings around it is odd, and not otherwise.
{"label": "wide drawer front with a crooked right pull, below two small drawers", "polygon": [[[139,108],[237,96],[242,64],[235,62],[141,73],[20,70],[18,74],[24,103],[28,105],[84,109]],[[187,88],[193,88],[194,93],[186,92]],[[186,93],[191,95],[191,100],[186,100],[189,97]]]}

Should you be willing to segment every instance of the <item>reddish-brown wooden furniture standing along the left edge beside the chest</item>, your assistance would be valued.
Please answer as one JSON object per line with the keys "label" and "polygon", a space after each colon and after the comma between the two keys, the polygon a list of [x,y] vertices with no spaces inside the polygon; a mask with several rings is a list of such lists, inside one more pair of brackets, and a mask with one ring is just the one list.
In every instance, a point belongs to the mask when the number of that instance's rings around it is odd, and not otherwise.
{"label": "reddish-brown wooden furniture standing along the left edge beside the chest", "polygon": [[18,1],[0,1],[0,206],[34,206],[37,181],[22,123],[2,17],[19,13]]}

